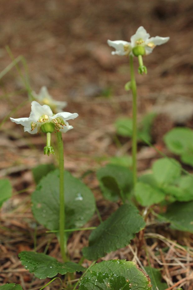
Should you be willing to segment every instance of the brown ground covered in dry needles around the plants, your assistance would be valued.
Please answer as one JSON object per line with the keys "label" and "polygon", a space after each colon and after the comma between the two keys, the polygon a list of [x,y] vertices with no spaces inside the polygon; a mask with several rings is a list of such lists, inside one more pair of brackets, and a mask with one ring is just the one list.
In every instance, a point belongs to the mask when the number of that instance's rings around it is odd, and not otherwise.
{"label": "brown ground covered in dry needles around the plants", "polygon": [[[132,114],[132,95],[124,89],[129,81],[128,61],[111,55],[107,39],[129,41],[141,25],[151,36],[170,36],[167,44],[157,46],[144,57],[147,75],[137,74],[137,59],[135,69],[138,118],[151,111],[158,112],[152,128],[153,142],[172,156],[162,142],[163,134],[176,125],[193,128],[191,0],[1,0],[0,5],[0,71],[12,62],[12,57],[23,56],[31,88],[38,93],[42,86],[47,86],[54,99],[68,102],[67,111],[79,114],[70,122],[74,129],[64,137],[65,168],[77,177],[88,170],[95,172],[106,164],[108,157],[131,152],[129,139],[121,141],[123,146],[117,146],[114,127],[116,118]],[[21,61],[18,68],[26,75]],[[45,229],[35,223],[30,209],[30,196],[35,189],[31,169],[55,159],[43,155],[44,136],[23,133],[21,126],[8,120],[10,116],[29,116],[30,102],[24,81],[16,67],[0,77],[3,120],[0,176],[9,178],[14,188],[12,199],[1,210],[0,284],[20,283],[24,290],[35,290],[50,279],[34,278],[21,266],[18,253],[34,249],[36,235],[38,252],[46,248],[47,253],[60,261],[61,256],[57,239],[45,234]],[[24,106],[14,111],[23,102]],[[146,144],[139,144],[138,151],[138,170],[142,174],[160,156]],[[192,172],[191,167],[185,168]],[[105,220],[117,205],[103,199],[94,173],[83,180],[96,196]],[[87,225],[98,223],[94,215]],[[183,246],[192,249],[193,236],[169,231],[166,225],[158,228],[151,215],[147,223],[147,232],[103,259],[128,259],[146,266],[144,243],[151,266],[161,269],[168,290],[180,286],[192,290],[193,257]],[[79,261],[88,236],[89,231],[80,231],[69,238],[68,251],[73,261]],[[83,266],[90,263],[84,260]],[[45,289],[60,288],[56,280]]]}

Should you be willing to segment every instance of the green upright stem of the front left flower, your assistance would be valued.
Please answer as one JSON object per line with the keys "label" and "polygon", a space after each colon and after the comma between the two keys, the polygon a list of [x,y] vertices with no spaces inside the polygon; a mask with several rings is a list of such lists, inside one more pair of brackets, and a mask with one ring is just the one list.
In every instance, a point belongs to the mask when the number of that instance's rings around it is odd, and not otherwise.
{"label": "green upright stem of the front left flower", "polygon": [[[48,134],[48,133],[47,133]],[[60,251],[64,262],[66,257],[66,244],[64,240],[65,230],[65,209],[64,209],[64,145],[62,141],[62,133],[57,132],[57,141],[59,148],[59,171],[60,171],[60,214],[59,214],[59,237],[60,237]]]}

